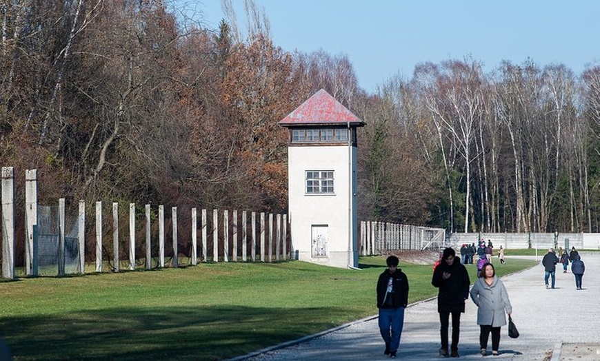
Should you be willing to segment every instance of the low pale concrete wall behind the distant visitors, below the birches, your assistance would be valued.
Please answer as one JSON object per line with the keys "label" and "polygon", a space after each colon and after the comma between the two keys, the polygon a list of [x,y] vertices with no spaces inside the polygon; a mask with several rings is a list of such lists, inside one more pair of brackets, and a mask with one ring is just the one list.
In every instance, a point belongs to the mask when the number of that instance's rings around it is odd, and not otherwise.
{"label": "low pale concrete wall behind the distant visitors, below the birches", "polygon": [[475,243],[479,239],[491,240],[494,249],[548,249],[563,247],[576,249],[600,249],[600,233],[453,233],[449,243],[460,247],[463,243]]}

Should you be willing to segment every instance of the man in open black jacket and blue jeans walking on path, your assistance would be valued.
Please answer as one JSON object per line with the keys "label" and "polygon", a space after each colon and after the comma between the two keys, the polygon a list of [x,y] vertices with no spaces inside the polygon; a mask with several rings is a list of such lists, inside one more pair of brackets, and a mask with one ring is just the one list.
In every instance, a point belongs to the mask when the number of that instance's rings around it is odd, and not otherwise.
{"label": "man in open black jacket and blue jeans walking on path", "polygon": [[396,358],[404,325],[404,309],[408,305],[408,278],[398,268],[398,257],[389,256],[388,268],[377,280],[377,308],[379,332],[386,342],[386,355]]}

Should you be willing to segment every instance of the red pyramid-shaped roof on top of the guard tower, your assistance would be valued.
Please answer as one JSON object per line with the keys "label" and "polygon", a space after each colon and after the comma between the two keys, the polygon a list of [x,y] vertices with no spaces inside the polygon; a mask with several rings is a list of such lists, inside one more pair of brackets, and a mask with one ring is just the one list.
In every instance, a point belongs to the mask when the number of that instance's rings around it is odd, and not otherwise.
{"label": "red pyramid-shaped roof on top of the guard tower", "polygon": [[328,92],[321,89],[279,122],[279,125],[363,125],[357,116],[339,103]]}

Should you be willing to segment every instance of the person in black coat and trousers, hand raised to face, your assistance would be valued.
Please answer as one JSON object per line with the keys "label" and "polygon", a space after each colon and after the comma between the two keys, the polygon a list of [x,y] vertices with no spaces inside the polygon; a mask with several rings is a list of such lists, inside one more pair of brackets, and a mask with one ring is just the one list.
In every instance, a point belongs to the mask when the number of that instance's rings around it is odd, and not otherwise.
{"label": "person in black coat and trousers, hand raised to face", "polygon": [[459,357],[461,313],[465,311],[465,300],[469,298],[471,281],[467,269],[459,262],[454,249],[448,247],[443,250],[441,263],[433,272],[431,284],[439,289],[437,295],[441,338],[439,355],[448,357],[448,319],[452,314],[450,351],[452,357],[457,358]]}

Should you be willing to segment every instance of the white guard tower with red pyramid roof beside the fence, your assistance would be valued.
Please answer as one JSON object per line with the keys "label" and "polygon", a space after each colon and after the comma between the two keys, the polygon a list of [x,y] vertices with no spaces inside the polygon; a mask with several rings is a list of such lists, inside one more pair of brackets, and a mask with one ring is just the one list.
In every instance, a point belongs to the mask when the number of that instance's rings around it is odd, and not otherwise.
{"label": "white guard tower with red pyramid roof beside the fence", "polygon": [[363,121],[321,89],[279,125],[290,130],[292,257],[358,267],[357,127]]}

